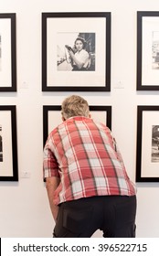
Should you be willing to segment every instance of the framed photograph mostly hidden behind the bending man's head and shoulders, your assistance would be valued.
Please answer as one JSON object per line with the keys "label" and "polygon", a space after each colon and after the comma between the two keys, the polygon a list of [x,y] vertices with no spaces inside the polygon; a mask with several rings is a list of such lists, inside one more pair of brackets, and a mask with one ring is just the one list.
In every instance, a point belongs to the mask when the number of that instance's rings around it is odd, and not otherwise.
{"label": "framed photograph mostly hidden behind the bending man's head and shoulders", "polygon": [[[46,144],[48,134],[62,123],[61,106],[43,106],[43,145]],[[90,106],[91,118],[105,123],[111,129],[111,106]]]}

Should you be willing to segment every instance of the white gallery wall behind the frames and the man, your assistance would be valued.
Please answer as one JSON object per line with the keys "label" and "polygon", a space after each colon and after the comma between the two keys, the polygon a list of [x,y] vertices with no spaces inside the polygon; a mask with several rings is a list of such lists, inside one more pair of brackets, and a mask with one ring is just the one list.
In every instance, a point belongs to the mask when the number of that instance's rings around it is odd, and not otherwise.
{"label": "white gallery wall behind the frames and the man", "polygon": [[[158,91],[136,91],[136,12],[146,10],[159,10],[158,0],[1,0],[0,13],[16,13],[17,92],[1,92],[0,105],[16,104],[19,176],[25,170],[31,176],[0,182],[0,237],[51,237],[54,225],[42,181],[42,106],[73,92],[41,91],[41,13],[111,12],[111,92],[79,94],[112,106],[112,132],[134,181],[137,105],[159,102]],[[119,80],[123,89],[115,89]],[[159,237],[159,184],[137,187],[137,237]]]}

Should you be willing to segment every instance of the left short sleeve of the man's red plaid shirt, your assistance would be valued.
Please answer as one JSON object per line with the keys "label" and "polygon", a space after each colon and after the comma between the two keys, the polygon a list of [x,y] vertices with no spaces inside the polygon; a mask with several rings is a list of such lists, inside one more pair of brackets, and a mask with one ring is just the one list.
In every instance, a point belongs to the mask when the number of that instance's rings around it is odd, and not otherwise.
{"label": "left short sleeve of the man's red plaid shirt", "polygon": [[45,145],[43,152],[43,176],[44,178],[49,176],[59,177],[58,162],[49,146],[49,143]]}

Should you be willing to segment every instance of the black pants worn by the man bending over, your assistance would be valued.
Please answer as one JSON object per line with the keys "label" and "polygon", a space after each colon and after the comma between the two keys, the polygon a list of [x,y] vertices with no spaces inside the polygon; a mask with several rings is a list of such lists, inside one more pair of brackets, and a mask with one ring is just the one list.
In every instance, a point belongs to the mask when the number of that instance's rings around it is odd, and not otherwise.
{"label": "black pants worn by the man bending over", "polygon": [[136,197],[102,196],[62,203],[54,238],[90,238],[97,230],[107,238],[135,237]]}

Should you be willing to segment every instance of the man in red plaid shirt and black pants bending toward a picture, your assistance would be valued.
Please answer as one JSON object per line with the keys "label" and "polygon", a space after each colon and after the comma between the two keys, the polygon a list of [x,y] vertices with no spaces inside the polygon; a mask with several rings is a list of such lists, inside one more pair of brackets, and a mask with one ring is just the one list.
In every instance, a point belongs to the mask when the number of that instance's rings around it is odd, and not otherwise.
{"label": "man in red plaid shirt and black pants bending toward a picture", "polygon": [[136,196],[107,126],[90,118],[77,95],[63,101],[62,121],[44,148],[44,177],[54,237],[135,237]]}

